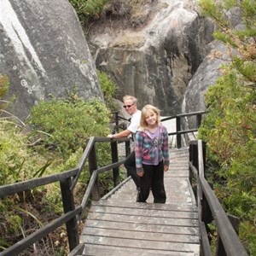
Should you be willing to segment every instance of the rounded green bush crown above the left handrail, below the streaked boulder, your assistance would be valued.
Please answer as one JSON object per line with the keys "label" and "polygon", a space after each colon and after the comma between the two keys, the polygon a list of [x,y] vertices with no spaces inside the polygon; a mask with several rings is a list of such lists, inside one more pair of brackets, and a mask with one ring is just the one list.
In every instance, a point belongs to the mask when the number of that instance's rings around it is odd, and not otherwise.
{"label": "rounded green bush crown above the left handrail, below the streaked boulder", "polygon": [[78,148],[85,148],[89,137],[108,134],[109,112],[96,99],[84,102],[72,96],[67,101],[40,102],[32,108],[29,123],[38,147],[67,159]]}

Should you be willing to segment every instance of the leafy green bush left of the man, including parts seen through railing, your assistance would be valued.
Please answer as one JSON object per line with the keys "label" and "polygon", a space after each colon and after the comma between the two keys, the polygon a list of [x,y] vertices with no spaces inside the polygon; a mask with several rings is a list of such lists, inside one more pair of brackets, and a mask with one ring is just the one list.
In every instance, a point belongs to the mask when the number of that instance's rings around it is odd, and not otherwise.
{"label": "leafy green bush left of the man, including parts seen through railing", "polygon": [[[44,155],[52,155],[55,158],[55,172],[64,172],[77,166],[90,137],[105,137],[109,133],[109,110],[99,100],[92,99],[84,102],[84,99],[76,96],[75,90],[67,100],[53,99],[50,102],[40,102],[32,108],[29,123],[32,126],[30,140],[33,149]],[[98,166],[106,166],[111,160],[109,143],[96,144]],[[56,160],[58,156],[59,160]],[[50,157],[50,156],[49,156]],[[88,166],[79,177],[77,190],[79,194],[86,189],[90,173]],[[105,179],[105,181],[104,181]],[[100,178],[100,183],[111,180],[111,173]],[[104,186],[105,187],[105,186]],[[106,189],[106,188],[104,188]],[[59,191],[55,188],[55,191]],[[49,195],[49,201],[60,203],[61,198],[54,193]],[[82,195],[81,195],[82,196]],[[49,198],[49,197],[48,197]]]}

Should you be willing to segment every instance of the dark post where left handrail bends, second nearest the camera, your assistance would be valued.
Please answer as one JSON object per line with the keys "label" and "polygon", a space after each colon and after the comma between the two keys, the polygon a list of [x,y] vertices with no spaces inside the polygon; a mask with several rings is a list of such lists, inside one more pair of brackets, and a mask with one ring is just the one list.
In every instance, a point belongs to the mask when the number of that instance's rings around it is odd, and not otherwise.
{"label": "dark post where left handrail bends, second nearest the camera", "polygon": [[[97,169],[97,166],[98,166],[97,165],[97,158],[96,158],[95,144],[93,145],[93,147],[90,150],[88,160],[89,160],[89,171],[90,171],[90,177],[91,177],[92,172],[95,171]],[[98,200],[101,199],[98,177],[96,177],[96,182],[93,185],[91,195],[92,195],[92,199],[95,200],[95,201],[98,201]]]}

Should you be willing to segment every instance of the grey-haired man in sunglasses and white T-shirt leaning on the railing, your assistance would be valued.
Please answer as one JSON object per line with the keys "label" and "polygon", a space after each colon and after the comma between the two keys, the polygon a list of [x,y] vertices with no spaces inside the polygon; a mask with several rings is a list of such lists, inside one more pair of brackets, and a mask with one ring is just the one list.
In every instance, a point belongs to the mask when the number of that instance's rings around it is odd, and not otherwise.
{"label": "grey-haired man in sunglasses and white T-shirt leaning on the railing", "polygon": [[[123,107],[125,108],[126,112],[131,115],[131,123],[125,131],[120,131],[119,133],[116,134],[109,134],[108,137],[110,138],[128,137],[130,135],[132,135],[132,137],[135,138],[135,133],[140,125],[142,113],[140,110],[137,109],[137,98],[134,96],[126,95],[123,97],[123,102]],[[134,150],[132,150],[131,154],[125,160],[124,166],[127,169],[128,176],[131,176],[132,180],[134,181],[138,189],[140,185],[139,177],[137,176]]]}

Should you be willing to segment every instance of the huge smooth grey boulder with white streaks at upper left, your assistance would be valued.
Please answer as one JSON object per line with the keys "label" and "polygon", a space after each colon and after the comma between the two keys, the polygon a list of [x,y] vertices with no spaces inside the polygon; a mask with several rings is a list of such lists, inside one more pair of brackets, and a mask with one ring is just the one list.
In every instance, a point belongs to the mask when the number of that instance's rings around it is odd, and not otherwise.
{"label": "huge smooth grey boulder with white streaks at upper left", "polygon": [[50,96],[77,84],[88,99],[102,92],[77,15],[68,0],[0,0],[0,73],[9,77],[12,113],[26,119]]}

